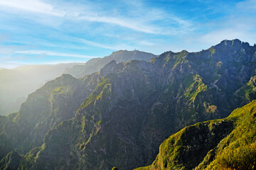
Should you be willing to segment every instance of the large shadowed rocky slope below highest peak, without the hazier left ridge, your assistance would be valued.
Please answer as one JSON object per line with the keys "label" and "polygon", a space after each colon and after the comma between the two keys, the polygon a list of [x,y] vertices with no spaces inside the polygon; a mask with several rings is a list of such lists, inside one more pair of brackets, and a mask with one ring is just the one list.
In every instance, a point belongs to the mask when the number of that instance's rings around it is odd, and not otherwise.
{"label": "large shadowed rocky slope below highest peak, without the hazier left ridge", "polygon": [[112,61],[87,78],[94,88],[81,98],[75,117],[50,130],[20,166],[107,170],[151,164],[170,135],[224,118],[253,99],[255,51],[246,42],[224,40],[201,52],[165,52],[150,62]]}

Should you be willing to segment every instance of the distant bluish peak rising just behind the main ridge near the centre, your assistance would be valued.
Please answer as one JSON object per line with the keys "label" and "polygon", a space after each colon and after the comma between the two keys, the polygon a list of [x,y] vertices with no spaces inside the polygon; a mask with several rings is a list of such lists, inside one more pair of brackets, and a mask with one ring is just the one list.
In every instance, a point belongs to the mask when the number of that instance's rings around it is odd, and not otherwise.
{"label": "distant bluish peak rising just behind the main ridge near the centre", "polygon": [[71,74],[73,75],[73,77],[83,77],[94,72],[99,72],[100,69],[105,67],[105,65],[112,60],[115,60],[117,63],[129,62],[132,60],[144,60],[146,62],[149,62],[149,60],[151,60],[151,58],[153,57],[156,57],[156,55],[153,55],[149,52],[142,52],[138,50],[119,50],[116,52],[112,52],[111,55],[108,55],[106,57],[94,58],[87,61],[85,64],[74,65],[72,68],[66,69],[65,74]]}

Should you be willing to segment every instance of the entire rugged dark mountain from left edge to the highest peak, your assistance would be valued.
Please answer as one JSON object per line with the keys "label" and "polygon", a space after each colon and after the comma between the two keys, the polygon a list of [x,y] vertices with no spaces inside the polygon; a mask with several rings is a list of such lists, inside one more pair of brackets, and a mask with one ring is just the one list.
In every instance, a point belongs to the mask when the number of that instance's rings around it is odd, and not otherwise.
{"label": "entire rugged dark mountain from left edge to the highest peak", "polygon": [[[1,162],[14,155],[20,169],[149,165],[178,130],[250,103],[255,61],[256,46],[223,40],[201,52],[164,52],[150,62],[112,60],[80,79],[63,74],[29,95],[18,113],[1,118]],[[215,145],[206,143],[201,157]],[[200,163],[190,162],[186,167]]]}

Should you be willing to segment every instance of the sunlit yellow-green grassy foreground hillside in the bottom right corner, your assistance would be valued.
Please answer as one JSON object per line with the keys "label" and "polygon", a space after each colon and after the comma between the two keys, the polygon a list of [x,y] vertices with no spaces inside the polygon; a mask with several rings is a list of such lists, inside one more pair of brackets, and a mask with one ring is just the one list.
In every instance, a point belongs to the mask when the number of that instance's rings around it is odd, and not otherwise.
{"label": "sunlit yellow-green grassy foreground hillside in the bottom right corner", "polygon": [[228,118],[191,125],[171,135],[146,169],[255,169],[256,101]]}

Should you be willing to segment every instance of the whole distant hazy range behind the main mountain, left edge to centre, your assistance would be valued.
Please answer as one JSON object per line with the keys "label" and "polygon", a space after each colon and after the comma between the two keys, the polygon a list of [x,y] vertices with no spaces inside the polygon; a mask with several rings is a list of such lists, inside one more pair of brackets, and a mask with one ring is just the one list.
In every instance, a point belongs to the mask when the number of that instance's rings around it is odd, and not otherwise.
{"label": "whole distant hazy range behind the main mountain, left edge to centre", "polygon": [[129,62],[144,60],[149,62],[156,57],[148,52],[138,50],[119,50],[103,58],[95,58],[82,63],[23,65],[15,69],[0,68],[0,115],[17,112],[21,104],[26,101],[28,94],[39,89],[47,81],[60,77],[61,74],[71,74],[74,77],[83,77],[99,72],[108,62]]}

